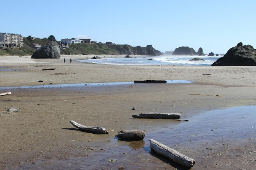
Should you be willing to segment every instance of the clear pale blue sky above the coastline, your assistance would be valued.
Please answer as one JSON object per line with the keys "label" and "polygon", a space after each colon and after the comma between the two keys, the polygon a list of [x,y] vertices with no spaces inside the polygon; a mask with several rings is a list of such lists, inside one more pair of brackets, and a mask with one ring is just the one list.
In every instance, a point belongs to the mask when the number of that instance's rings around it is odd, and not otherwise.
{"label": "clear pale blue sky above the coastline", "polygon": [[255,0],[1,0],[0,32],[90,38],[159,51],[256,47]]}

